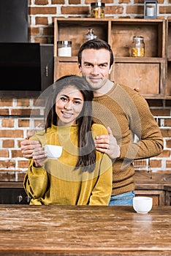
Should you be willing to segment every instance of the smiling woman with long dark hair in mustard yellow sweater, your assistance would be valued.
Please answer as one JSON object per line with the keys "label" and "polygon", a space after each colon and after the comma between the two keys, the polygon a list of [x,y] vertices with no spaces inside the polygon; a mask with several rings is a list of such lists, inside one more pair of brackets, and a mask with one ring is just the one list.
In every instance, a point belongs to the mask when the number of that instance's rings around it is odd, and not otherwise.
{"label": "smiling woman with long dark hair in mustard yellow sweater", "polygon": [[[24,188],[30,204],[108,205],[112,192],[112,162],[95,150],[97,135],[107,134],[91,118],[93,92],[76,75],[56,81],[45,108],[45,129],[31,140],[42,147],[28,162]],[[47,159],[45,145],[63,147],[61,157]]]}

